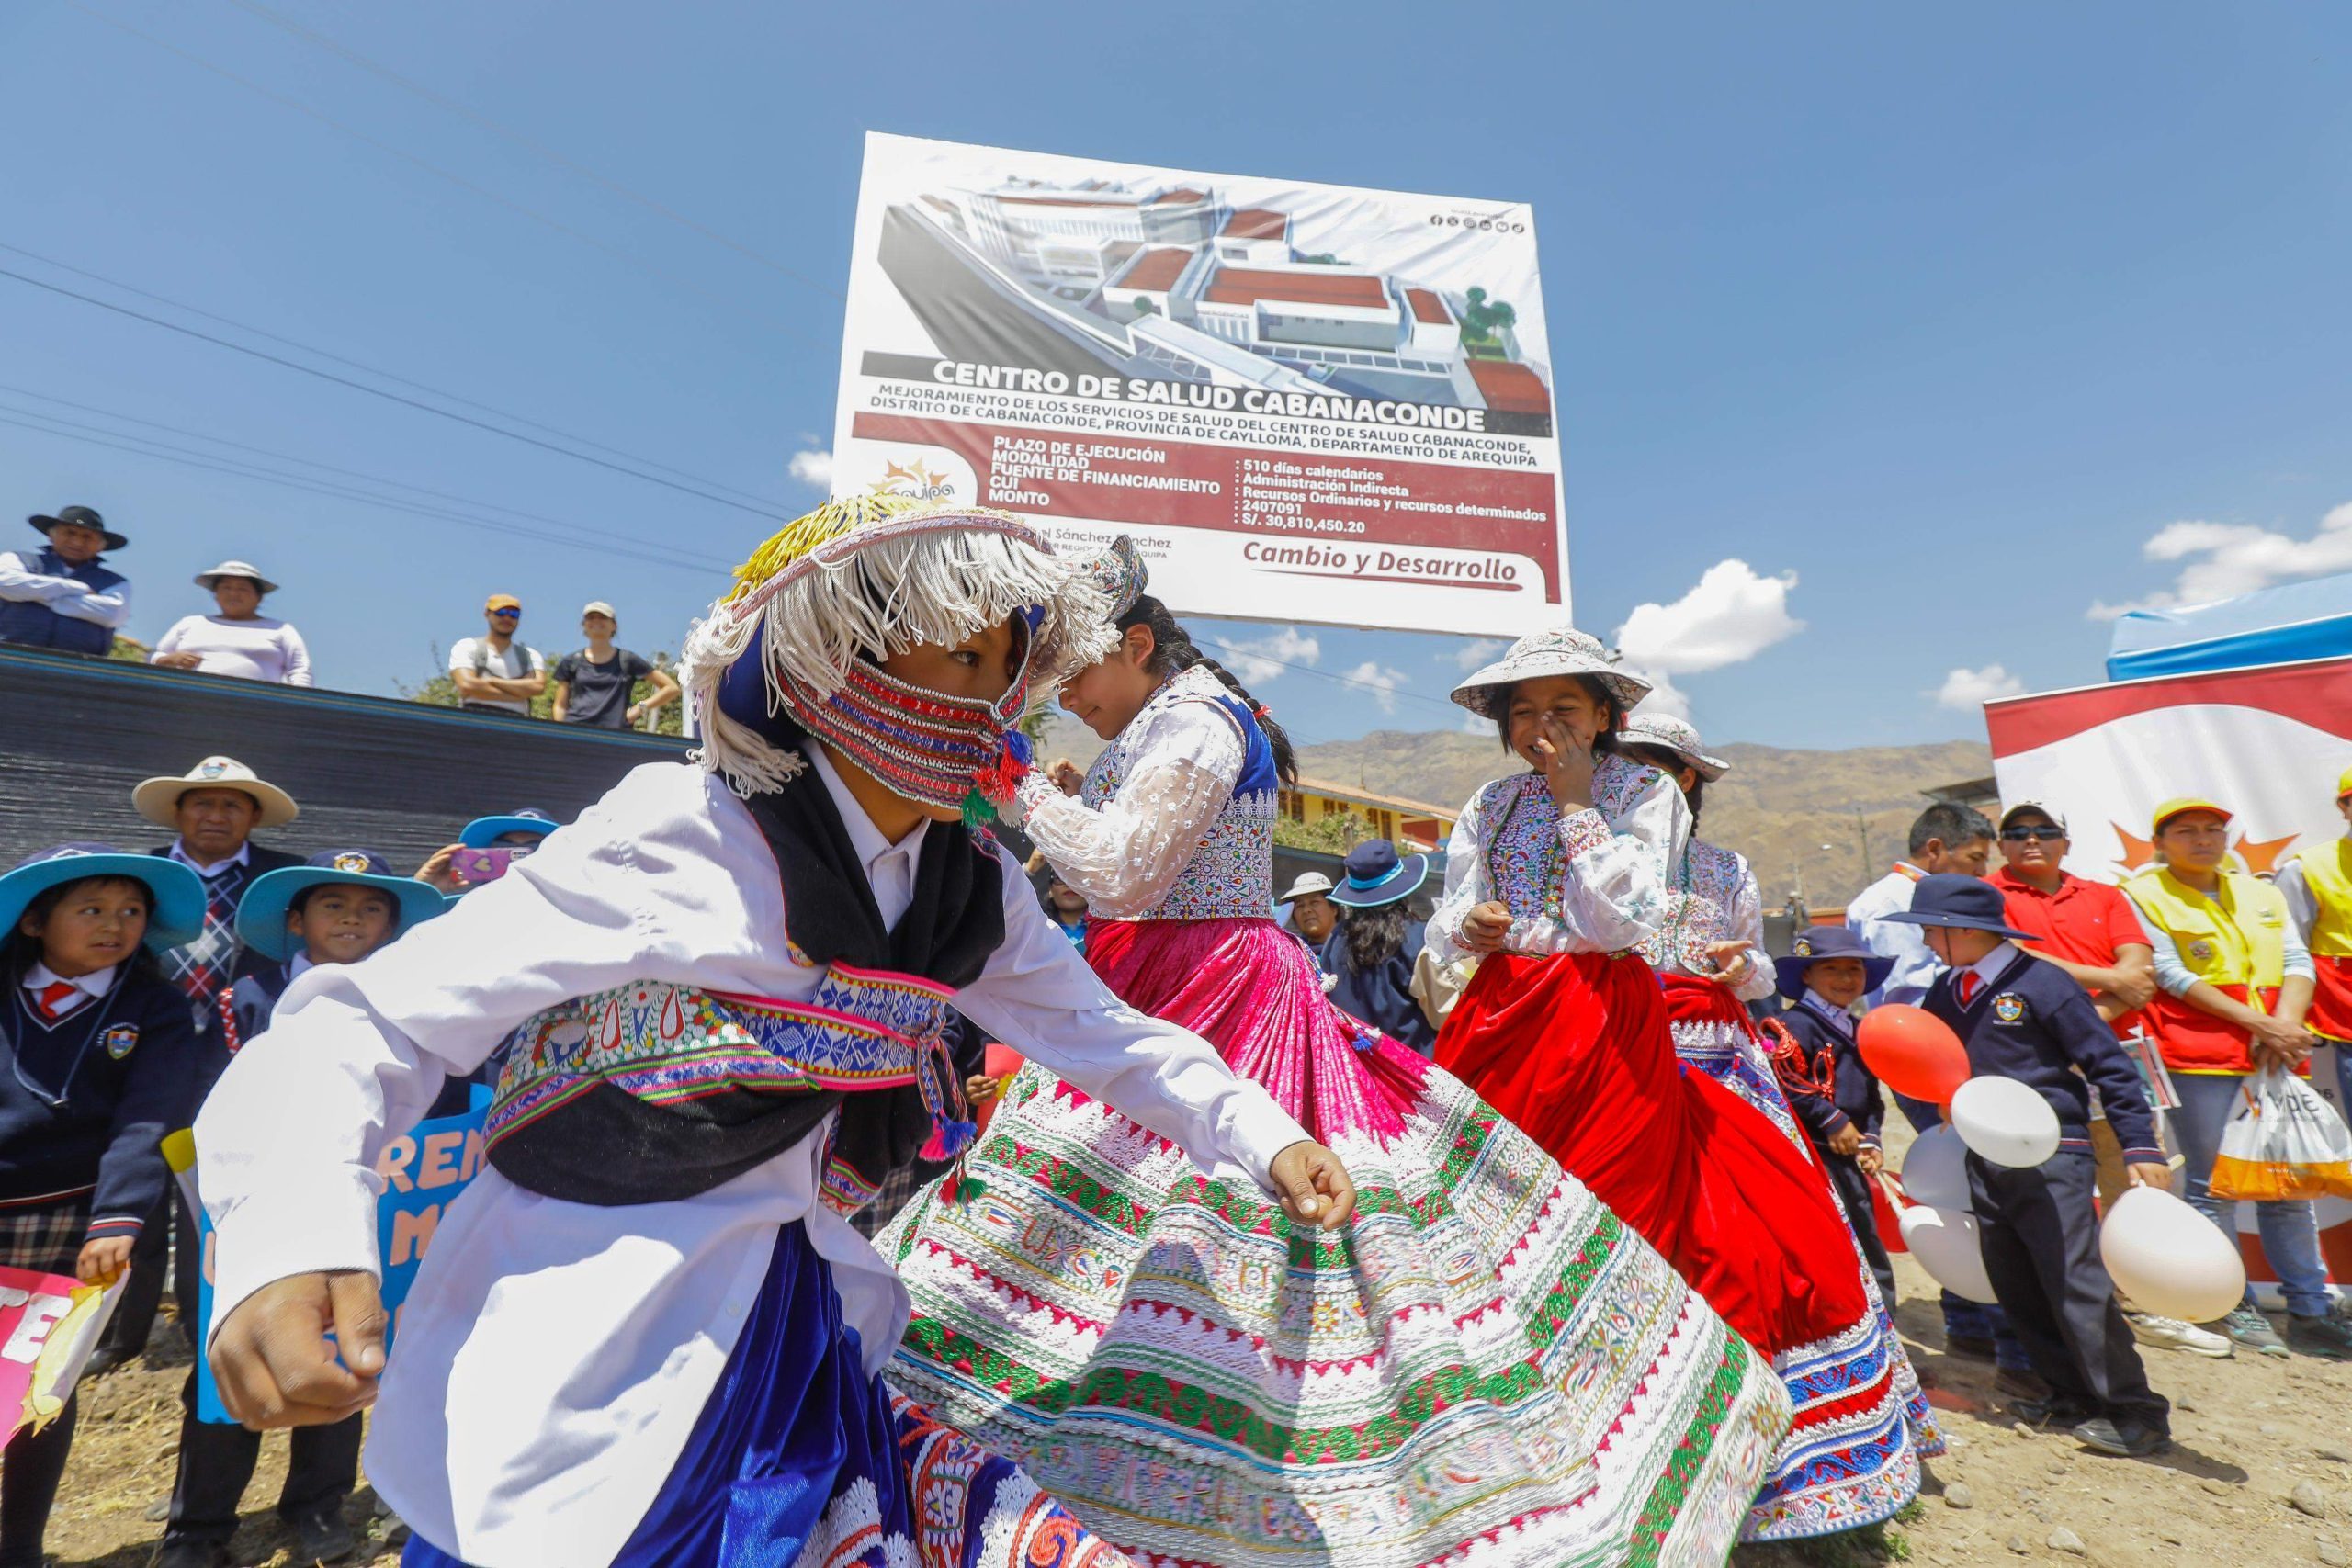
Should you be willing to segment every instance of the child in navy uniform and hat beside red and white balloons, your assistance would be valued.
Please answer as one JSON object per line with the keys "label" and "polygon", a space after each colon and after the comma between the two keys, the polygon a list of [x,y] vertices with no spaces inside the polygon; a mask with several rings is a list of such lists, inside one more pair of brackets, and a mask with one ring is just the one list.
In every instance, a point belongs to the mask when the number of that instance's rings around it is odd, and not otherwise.
{"label": "child in navy uniform and hat beside red and white balloons", "polygon": [[[2004,1077],[2058,1114],[2058,1152],[2039,1166],[2004,1166],[1969,1152],[1969,1197],[1985,1276],[2025,1345],[2046,1401],[2011,1406],[2032,1425],[2072,1427],[2086,1448],[2147,1458],[2171,1446],[2164,1396],[2147,1387],[2114,1281],[2098,1258],[2091,1161],[2091,1084],[2124,1145],[2133,1185],[2164,1190],[2138,1070],[2074,978],[2016,945],[2002,893],[1976,877],[1924,877],[1905,914],[1947,964],[1926,1011],[1959,1034],[1976,1077]],[[1966,1135],[1966,1126],[1962,1126]]]}

